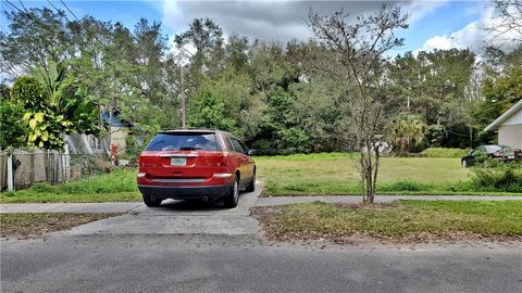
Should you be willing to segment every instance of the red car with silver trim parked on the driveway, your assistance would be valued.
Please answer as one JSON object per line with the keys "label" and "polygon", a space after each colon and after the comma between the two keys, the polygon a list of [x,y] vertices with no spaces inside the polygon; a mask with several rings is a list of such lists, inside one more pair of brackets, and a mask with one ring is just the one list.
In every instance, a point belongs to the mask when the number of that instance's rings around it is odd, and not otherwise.
{"label": "red car with silver trim parked on the driveway", "polygon": [[139,156],[138,189],[147,206],[223,198],[225,206],[235,207],[239,190],[256,188],[253,154],[225,131],[160,131]]}

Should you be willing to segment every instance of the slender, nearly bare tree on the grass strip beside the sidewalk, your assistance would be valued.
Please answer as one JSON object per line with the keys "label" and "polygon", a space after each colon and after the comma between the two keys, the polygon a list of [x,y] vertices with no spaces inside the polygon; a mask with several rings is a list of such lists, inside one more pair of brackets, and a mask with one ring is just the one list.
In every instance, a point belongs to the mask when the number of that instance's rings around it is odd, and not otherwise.
{"label": "slender, nearly bare tree on the grass strip beside the sidewalk", "polygon": [[[346,88],[346,110],[351,115],[348,132],[359,152],[355,160],[362,179],[363,202],[373,203],[378,164],[380,138],[385,133],[385,112],[389,101],[384,94],[384,54],[402,46],[394,31],[408,28],[407,14],[400,8],[384,4],[374,15],[358,16],[353,24],[343,11],[331,16],[310,12],[309,26],[321,44],[334,53],[332,77]],[[322,63],[325,64],[325,63]],[[334,67],[335,66],[335,67]],[[339,76],[337,68],[343,68]],[[343,80],[344,79],[344,80]]]}

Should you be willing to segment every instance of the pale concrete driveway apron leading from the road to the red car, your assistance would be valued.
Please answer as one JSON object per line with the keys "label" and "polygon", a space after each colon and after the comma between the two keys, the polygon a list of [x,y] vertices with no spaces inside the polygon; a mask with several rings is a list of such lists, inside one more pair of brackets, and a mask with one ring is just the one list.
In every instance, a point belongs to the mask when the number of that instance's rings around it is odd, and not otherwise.
{"label": "pale concrete driveway apron leading from the road to the red car", "polygon": [[83,225],[59,234],[231,234],[257,237],[261,230],[250,217],[260,191],[241,193],[235,208],[222,202],[164,201],[160,207],[139,204],[126,214]]}

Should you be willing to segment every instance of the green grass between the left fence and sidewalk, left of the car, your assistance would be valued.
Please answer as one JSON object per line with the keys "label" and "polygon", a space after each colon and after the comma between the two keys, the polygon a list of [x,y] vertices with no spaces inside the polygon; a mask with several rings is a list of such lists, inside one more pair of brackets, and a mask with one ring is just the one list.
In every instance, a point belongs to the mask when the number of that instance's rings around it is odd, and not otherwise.
{"label": "green grass between the left fence and sidewalk, left of the car", "polygon": [[141,201],[136,186],[136,174],[137,170],[134,169],[121,169],[57,186],[37,183],[26,190],[2,192],[0,203]]}

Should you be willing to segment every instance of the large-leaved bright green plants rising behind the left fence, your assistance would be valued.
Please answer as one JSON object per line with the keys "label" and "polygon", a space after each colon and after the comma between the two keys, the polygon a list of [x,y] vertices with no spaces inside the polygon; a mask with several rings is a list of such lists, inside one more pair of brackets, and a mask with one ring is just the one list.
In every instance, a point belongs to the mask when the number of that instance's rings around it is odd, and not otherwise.
{"label": "large-leaved bright green plants rising behind the left fence", "polygon": [[63,148],[64,135],[99,133],[98,109],[85,99],[65,67],[49,61],[47,69],[33,68],[36,77],[22,76],[11,89],[13,101],[25,109],[27,144],[47,150]]}

